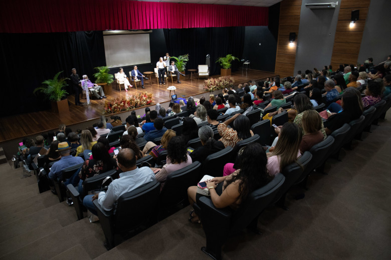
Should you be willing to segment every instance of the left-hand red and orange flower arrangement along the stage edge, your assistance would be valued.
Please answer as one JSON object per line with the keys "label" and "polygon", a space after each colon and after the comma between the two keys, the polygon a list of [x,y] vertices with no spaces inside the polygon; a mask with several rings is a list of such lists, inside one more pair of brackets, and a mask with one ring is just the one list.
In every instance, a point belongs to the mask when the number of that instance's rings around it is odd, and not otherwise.
{"label": "left-hand red and orange flower arrangement along the stage edge", "polygon": [[147,92],[139,92],[135,95],[130,95],[128,98],[115,98],[105,102],[104,114],[118,113],[128,111],[140,106],[153,104],[153,94]]}

